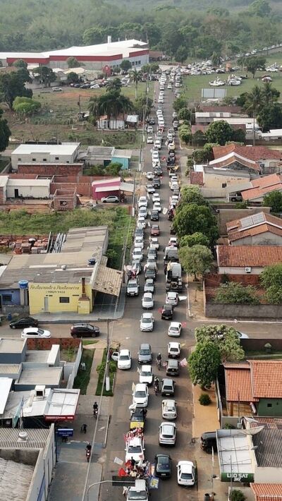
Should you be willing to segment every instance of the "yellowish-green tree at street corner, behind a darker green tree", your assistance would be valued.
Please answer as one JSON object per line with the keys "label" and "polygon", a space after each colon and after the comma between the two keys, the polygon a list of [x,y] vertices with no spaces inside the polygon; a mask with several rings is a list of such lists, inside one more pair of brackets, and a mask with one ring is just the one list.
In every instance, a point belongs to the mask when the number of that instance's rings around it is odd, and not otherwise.
{"label": "yellowish-green tree at street corner, behind a darker green tree", "polygon": [[221,362],[237,362],[245,356],[239,333],[234,327],[224,324],[202,325],[196,327],[195,338],[197,343],[214,342],[219,349]]}

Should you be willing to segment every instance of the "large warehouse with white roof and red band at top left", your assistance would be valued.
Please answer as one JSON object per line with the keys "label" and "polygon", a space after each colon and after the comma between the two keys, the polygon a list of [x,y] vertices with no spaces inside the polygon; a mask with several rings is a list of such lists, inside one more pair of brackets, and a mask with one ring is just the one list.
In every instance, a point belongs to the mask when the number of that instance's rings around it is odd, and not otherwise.
{"label": "large warehouse with white roof and red band at top left", "polygon": [[0,52],[2,66],[11,66],[18,59],[27,64],[38,64],[50,68],[68,68],[67,59],[75,57],[87,69],[102,70],[116,68],[123,59],[128,59],[133,67],[149,63],[149,48],[140,40],[121,40],[106,44],[69,47],[49,52]]}

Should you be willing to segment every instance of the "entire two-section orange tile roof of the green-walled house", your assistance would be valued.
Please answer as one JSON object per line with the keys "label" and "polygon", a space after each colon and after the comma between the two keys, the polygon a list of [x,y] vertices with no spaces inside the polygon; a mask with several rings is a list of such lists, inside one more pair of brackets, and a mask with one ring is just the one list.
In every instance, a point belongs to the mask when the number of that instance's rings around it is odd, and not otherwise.
{"label": "entire two-section orange tile roof of the green-walled house", "polygon": [[258,402],[282,398],[282,361],[248,360],[223,363],[228,402]]}

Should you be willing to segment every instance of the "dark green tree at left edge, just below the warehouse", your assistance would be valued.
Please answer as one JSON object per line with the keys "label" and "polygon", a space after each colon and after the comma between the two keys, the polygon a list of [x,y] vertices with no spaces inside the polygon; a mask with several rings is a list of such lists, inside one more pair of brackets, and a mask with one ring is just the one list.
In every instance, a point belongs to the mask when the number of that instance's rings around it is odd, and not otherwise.
{"label": "dark green tree at left edge, just below the warehouse", "polygon": [[32,97],[32,90],[25,88],[27,78],[25,70],[0,75],[0,95],[10,109],[12,109],[13,101],[17,96]]}

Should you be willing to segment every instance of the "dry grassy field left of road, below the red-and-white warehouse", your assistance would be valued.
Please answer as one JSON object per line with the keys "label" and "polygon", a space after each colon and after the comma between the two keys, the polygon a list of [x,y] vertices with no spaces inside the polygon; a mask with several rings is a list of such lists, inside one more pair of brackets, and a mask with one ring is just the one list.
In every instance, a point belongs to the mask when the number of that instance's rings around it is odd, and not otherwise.
{"label": "dry grassy field left of road, below the red-and-white warehouse", "polygon": [[[145,83],[137,87],[137,97],[145,93]],[[154,85],[149,83],[149,96],[153,97]],[[51,89],[34,90],[34,98],[42,104],[42,111],[27,121],[20,120],[16,114],[6,110],[5,118],[11,128],[13,140],[18,143],[25,140],[80,141],[84,145],[100,145],[102,135],[92,124],[78,121],[78,102],[81,111],[87,111],[89,99],[101,95],[103,89],[73,89],[63,87],[63,92],[52,92]],[[123,87],[124,95],[135,101],[135,86]],[[103,140],[113,146],[124,148],[137,147],[140,143],[139,133],[134,131],[104,131]]]}

